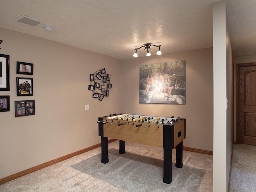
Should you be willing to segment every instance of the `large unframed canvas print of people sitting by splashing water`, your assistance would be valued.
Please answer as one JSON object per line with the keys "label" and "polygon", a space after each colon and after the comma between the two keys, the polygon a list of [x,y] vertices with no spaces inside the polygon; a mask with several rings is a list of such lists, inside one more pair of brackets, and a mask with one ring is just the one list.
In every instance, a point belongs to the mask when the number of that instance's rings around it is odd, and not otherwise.
{"label": "large unframed canvas print of people sitting by splashing water", "polygon": [[185,61],[140,65],[140,103],[186,104]]}

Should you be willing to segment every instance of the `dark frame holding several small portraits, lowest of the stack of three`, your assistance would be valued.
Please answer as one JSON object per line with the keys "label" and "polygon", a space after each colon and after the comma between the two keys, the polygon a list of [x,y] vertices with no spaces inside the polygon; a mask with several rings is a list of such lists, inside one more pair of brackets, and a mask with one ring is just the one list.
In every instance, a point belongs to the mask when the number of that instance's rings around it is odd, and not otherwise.
{"label": "dark frame holding several small portraits, lowest of the stack of three", "polygon": [[15,117],[34,115],[35,100],[15,101]]}

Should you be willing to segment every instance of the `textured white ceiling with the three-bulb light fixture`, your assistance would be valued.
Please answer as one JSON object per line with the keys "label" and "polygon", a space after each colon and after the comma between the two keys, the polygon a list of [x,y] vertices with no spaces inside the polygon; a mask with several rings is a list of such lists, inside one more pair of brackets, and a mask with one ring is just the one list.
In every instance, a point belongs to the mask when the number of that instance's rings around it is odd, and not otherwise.
{"label": "textured white ceiling with the three-bulb light fixture", "polygon": [[[0,26],[124,60],[145,43],[162,45],[163,54],[212,47],[212,3],[217,1],[0,0]],[[226,4],[233,55],[256,53],[256,0]],[[21,15],[44,24],[15,21]],[[139,57],[145,55],[138,50]]]}

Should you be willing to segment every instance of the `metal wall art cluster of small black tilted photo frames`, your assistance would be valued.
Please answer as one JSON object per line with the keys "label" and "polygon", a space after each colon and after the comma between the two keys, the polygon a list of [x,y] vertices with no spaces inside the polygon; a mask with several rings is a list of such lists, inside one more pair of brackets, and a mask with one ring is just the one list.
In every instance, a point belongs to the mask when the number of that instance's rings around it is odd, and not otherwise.
{"label": "metal wall art cluster of small black tilted photo frames", "polygon": [[106,74],[105,69],[90,74],[90,82],[88,90],[93,92],[93,98],[102,101],[105,96],[109,96],[109,89],[112,88],[112,84],[110,83],[110,74]]}

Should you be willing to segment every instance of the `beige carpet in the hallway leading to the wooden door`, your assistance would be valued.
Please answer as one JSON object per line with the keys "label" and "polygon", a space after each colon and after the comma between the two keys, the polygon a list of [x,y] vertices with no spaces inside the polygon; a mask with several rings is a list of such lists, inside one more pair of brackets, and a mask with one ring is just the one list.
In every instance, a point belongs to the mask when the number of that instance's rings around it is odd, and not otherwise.
{"label": "beige carpet in the hallway leading to the wooden door", "polygon": [[256,192],[256,146],[233,145],[230,192]]}

